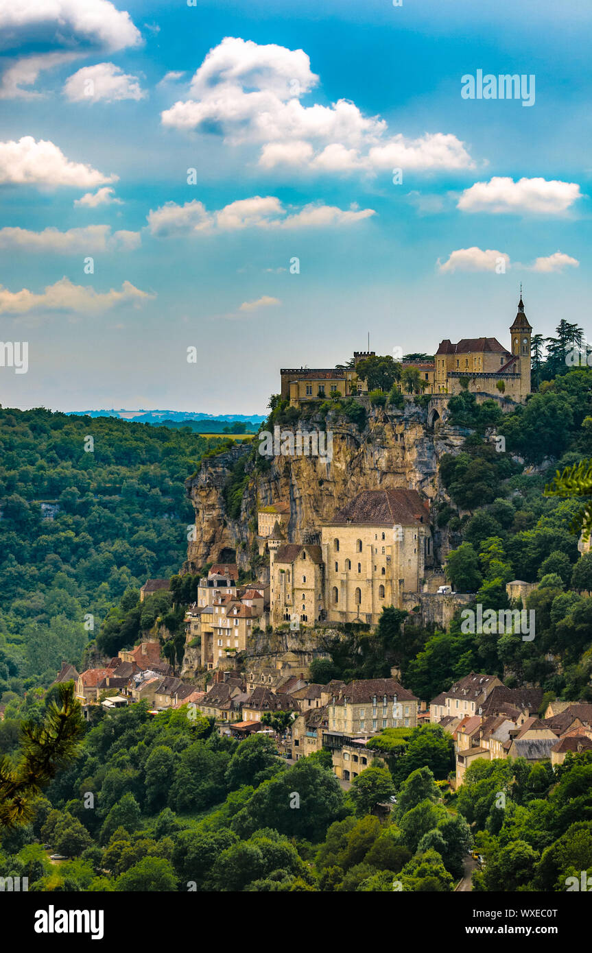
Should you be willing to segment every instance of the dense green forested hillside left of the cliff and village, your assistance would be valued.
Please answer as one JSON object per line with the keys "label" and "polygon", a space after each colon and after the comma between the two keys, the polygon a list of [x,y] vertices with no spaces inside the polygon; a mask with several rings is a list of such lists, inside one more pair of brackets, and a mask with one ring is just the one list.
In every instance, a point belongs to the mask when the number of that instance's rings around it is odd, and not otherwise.
{"label": "dense green forested hillside left of the cliff and village", "polygon": [[47,686],[127,589],[178,572],[194,519],[184,480],[217,443],[111,417],[0,410],[0,700]]}

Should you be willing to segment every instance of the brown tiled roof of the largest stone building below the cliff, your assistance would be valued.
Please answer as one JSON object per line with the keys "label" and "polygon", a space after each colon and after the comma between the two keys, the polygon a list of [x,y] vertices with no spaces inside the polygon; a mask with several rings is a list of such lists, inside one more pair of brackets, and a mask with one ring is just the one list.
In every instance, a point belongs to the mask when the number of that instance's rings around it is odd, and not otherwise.
{"label": "brown tiled roof of the largest stone building below the cliff", "polygon": [[362,490],[327,525],[414,526],[429,519],[429,504],[417,490]]}

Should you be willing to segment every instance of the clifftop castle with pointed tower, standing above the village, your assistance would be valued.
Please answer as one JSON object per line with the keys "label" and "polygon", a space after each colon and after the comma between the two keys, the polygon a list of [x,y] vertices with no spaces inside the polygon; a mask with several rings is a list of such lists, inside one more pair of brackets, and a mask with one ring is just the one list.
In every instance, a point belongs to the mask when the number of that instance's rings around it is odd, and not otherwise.
{"label": "clifftop castle with pointed tower, standing above the village", "polygon": [[[417,368],[425,394],[454,395],[466,389],[521,403],[530,394],[531,336],[521,294],[510,327],[510,351],[496,337],[464,337],[456,344],[445,338],[433,361],[408,361],[402,367]],[[368,395],[366,381],[357,377],[356,368],[361,360],[374,356],[374,351],[355,352],[353,367],[282,368],[281,399],[299,408],[332,396]]]}

